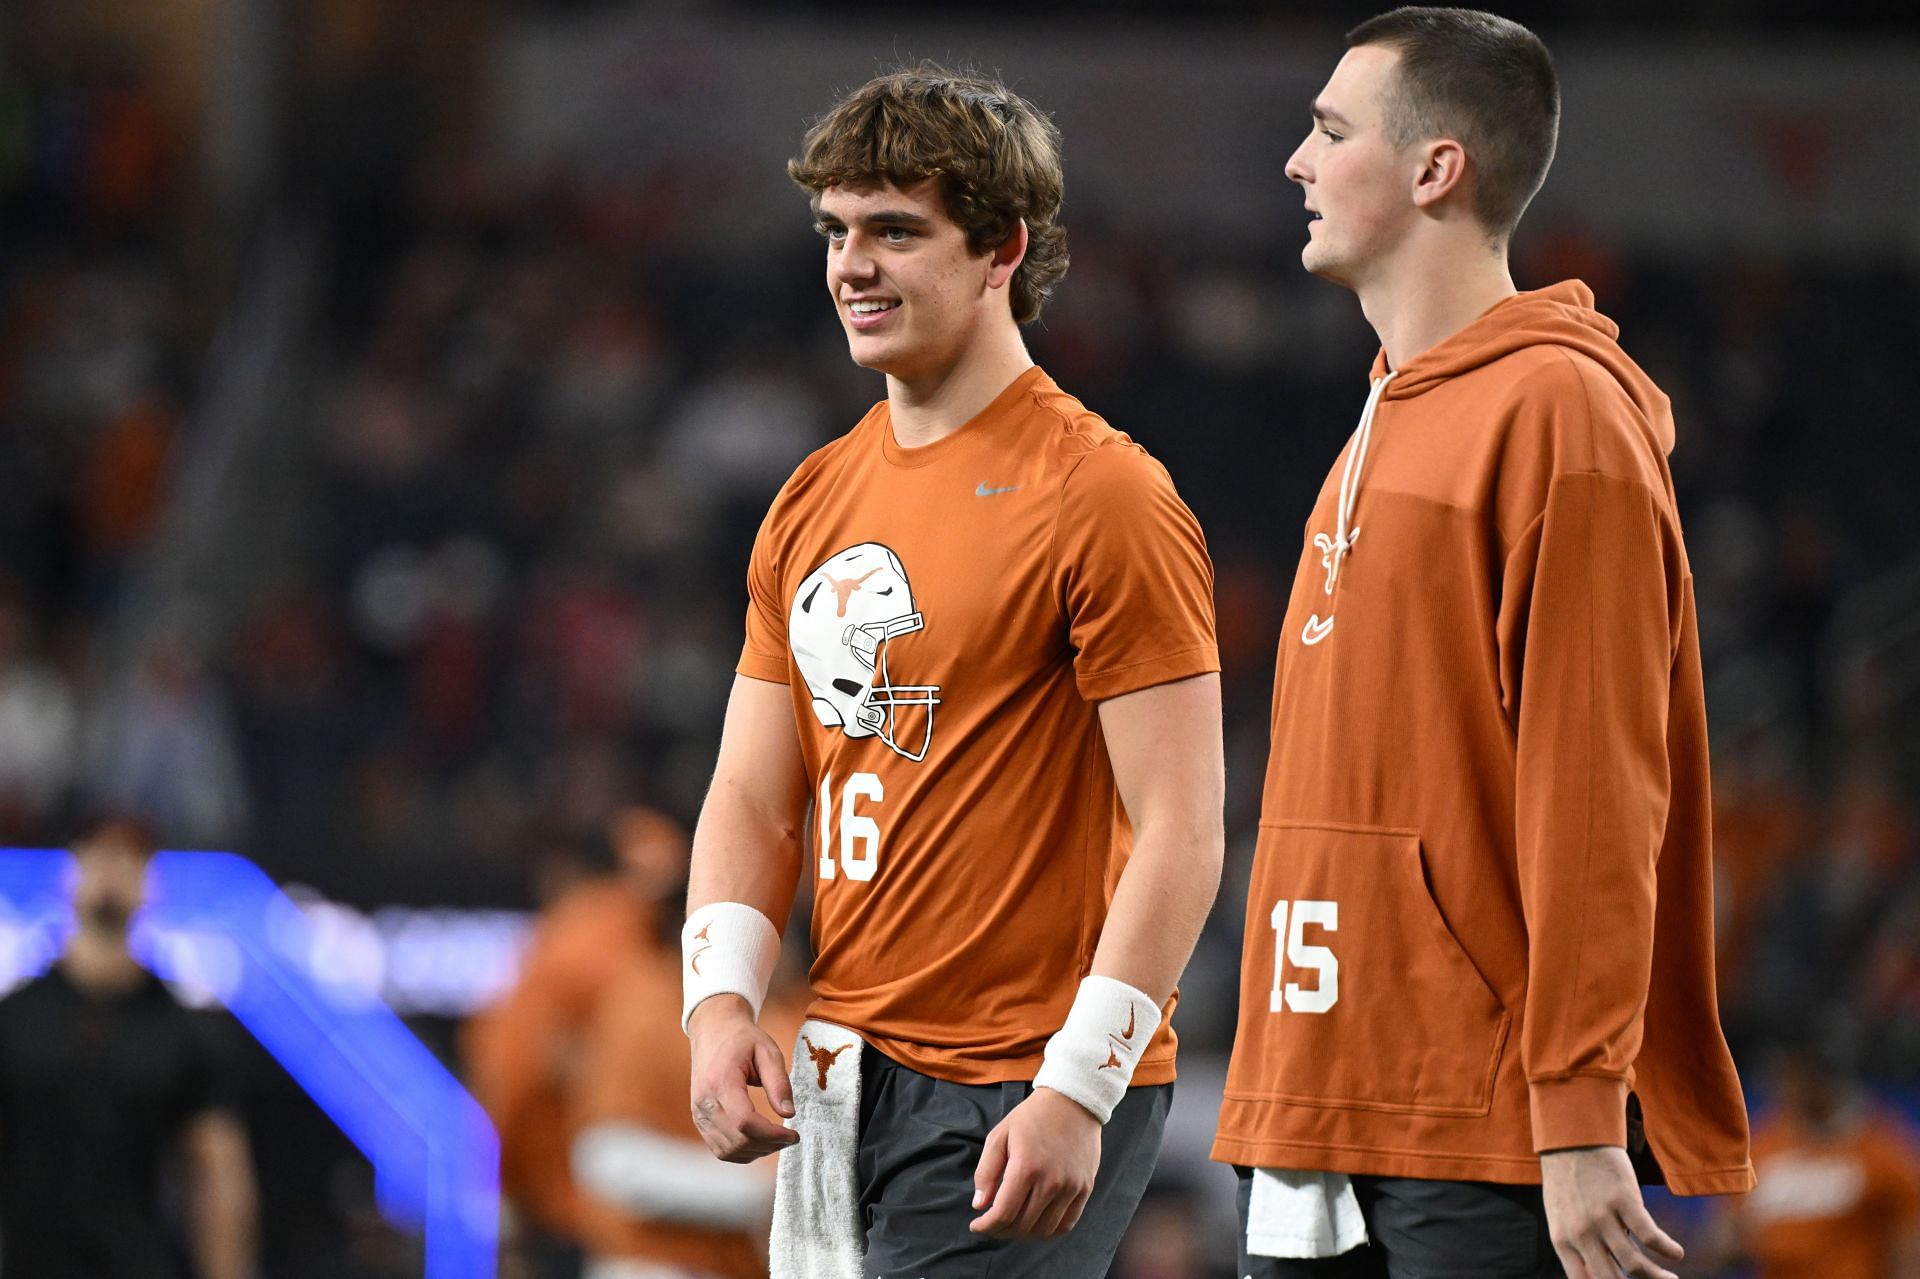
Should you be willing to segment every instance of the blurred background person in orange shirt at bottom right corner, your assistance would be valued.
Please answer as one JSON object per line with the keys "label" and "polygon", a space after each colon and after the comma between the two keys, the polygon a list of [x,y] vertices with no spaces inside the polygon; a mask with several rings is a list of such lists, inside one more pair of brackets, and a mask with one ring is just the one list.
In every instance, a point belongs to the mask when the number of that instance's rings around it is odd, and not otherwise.
{"label": "blurred background person in orange shirt at bottom right corner", "polygon": [[1920,1150],[1830,1045],[1782,1050],[1780,1106],[1753,1135],[1761,1183],[1722,1212],[1713,1250],[1759,1279],[1920,1277]]}

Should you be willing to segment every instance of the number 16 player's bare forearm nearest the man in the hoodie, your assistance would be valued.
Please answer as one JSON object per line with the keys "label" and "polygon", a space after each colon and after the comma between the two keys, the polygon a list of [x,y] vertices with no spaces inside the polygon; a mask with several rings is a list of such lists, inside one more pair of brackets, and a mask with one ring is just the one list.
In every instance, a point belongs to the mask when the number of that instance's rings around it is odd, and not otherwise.
{"label": "number 16 player's bare forearm nearest the man in the hoodie", "polygon": [[1219,808],[1135,832],[1094,949],[1092,972],[1165,1004],[1219,891],[1225,837]]}

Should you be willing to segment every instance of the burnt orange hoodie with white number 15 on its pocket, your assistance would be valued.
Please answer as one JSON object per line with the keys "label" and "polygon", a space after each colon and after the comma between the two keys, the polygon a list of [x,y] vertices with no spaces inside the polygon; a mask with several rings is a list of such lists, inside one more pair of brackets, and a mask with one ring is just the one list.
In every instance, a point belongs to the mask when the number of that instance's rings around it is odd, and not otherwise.
{"label": "burnt orange hoodie with white number 15 on its pocket", "polygon": [[1540,1181],[1628,1145],[1745,1191],[1667,396],[1584,284],[1373,394],[1281,634],[1213,1158]]}

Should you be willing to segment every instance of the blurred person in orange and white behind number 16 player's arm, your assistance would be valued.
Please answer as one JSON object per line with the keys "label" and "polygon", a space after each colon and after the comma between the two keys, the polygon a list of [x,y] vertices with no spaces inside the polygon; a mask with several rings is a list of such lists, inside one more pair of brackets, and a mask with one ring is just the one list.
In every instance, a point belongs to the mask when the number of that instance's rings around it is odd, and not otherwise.
{"label": "blurred person in orange and white behind number 16 player's arm", "polygon": [[[787,1043],[804,1012],[801,974],[804,958],[783,962],[760,1012]],[[662,928],[586,1031],[572,1112],[586,1279],[764,1279],[774,1162],[712,1158],[685,1104],[691,1072],[680,935]]]}

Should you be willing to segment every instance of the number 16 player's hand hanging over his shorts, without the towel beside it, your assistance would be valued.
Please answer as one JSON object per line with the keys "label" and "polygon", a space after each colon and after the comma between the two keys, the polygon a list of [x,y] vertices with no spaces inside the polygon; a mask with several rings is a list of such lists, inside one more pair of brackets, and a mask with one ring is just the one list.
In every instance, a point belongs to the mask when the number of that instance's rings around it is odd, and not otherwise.
{"label": "number 16 player's hand hanging over his shorts, without the towel beside it", "polygon": [[1079,1102],[1033,1089],[993,1125],[973,1171],[970,1231],[1002,1239],[1052,1239],[1079,1223],[1100,1171],[1100,1120]]}

